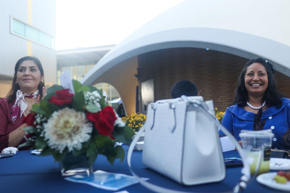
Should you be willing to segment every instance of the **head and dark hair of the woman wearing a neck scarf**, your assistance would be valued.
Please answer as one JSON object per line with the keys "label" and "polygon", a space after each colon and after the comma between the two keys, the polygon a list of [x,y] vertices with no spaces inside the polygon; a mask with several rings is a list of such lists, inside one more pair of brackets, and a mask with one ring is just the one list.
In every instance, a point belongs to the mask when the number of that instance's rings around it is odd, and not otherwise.
{"label": "head and dark hair of the woman wearing a neck scarf", "polygon": [[20,58],[14,68],[12,88],[7,94],[8,101],[14,101],[17,90],[23,93],[34,93],[39,90],[42,98],[42,87],[44,87],[44,71],[41,62],[34,56]]}

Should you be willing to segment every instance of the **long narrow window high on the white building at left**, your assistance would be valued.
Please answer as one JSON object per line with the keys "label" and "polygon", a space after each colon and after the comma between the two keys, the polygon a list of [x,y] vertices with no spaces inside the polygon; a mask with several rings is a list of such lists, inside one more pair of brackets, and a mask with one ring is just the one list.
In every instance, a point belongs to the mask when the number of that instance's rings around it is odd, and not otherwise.
{"label": "long narrow window high on the white building at left", "polygon": [[14,17],[11,17],[11,33],[46,47],[55,48],[54,37]]}

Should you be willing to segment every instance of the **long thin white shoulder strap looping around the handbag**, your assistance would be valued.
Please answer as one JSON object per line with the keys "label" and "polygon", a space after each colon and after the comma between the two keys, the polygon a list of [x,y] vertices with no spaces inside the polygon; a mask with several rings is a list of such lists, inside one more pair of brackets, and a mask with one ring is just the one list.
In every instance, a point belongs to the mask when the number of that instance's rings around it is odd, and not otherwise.
{"label": "long thin white shoulder strap looping around the handbag", "polygon": [[[259,156],[258,156],[258,163],[255,169],[255,174],[250,178],[250,165],[249,165],[249,161],[247,160],[247,156],[244,152],[244,150],[242,149],[241,145],[239,144],[239,142],[233,137],[233,135],[231,135],[231,133],[229,133],[229,131],[219,122],[217,122],[215,120],[215,118],[202,106],[200,101],[195,101],[195,100],[190,100],[189,98],[187,98],[185,95],[182,95],[181,98],[188,102],[188,105],[193,105],[194,107],[198,108],[200,107],[201,109],[203,109],[204,114],[209,117],[211,119],[211,121],[218,127],[220,127],[220,129],[222,130],[222,132],[227,135],[235,144],[241,158],[242,158],[242,162],[243,162],[243,168],[241,170],[241,173],[243,174],[242,177],[240,178],[240,181],[235,185],[235,187],[233,188],[232,191],[228,191],[228,192],[234,192],[234,193],[238,193],[241,190],[244,190],[247,185],[255,178],[255,176],[258,173],[258,170],[260,168],[261,165],[261,161],[262,161],[262,151],[260,151]],[[147,181],[145,181],[143,178],[139,177],[132,169],[131,167],[131,157],[132,157],[132,153],[133,153],[133,149],[135,147],[136,142],[138,141],[139,137],[142,135],[142,133],[145,130],[145,125],[146,123],[143,125],[143,127],[138,131],[138,133],[136,134],[136,136],[134,137],[133,141],[131,142],[129,149],[128,149],[128,153],[127,153],[127,163],[128,163],[128,167],[130,172],[133,174],[134,177],[136,177],[136,179],[142,184],[144,185],[146,188],[154,191],[154,192],[164,192],[164,193],[188,193],[188,192],[183,192],[183,191],[178,191],[178,190],[171,190],[168,188],[163,188],[160,187],[158,185],[154,185],[152,183],[149,183]]]}

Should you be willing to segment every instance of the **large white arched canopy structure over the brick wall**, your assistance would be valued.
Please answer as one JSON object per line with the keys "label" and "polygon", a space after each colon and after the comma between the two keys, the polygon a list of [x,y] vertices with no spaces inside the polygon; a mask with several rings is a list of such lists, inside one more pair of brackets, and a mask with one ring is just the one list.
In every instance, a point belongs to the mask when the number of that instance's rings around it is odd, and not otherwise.
{"label": "large white arched canopy structure over the brick wall", "polygon": [[290,76],[288,0],[188,0],[163,12],[110,50],[81,80],[108,82],[128,113],[135,110],[139,54],[159,49],[209,48],[252,59],[271,58]]}

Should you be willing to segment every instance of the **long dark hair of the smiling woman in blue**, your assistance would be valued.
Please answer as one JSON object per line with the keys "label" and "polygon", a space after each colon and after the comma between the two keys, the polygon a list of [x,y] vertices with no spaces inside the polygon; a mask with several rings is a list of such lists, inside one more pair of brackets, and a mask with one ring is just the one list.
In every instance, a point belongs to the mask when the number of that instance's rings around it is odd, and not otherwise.
{"label": "long dark hair of the smiling woman in blue", "polygon": [[240,73],[237,88],[235,89],[235,99],[231,105],[238,104],[239,106],[243,107],[247,104],[248,94],[245,86],[245,73],[247,68],[253,63],[262,64],[265,67],[268,75],[268,87],[264,94],[264,100],[266,100],[268,106],[275,105],[277,108],[279,108],[279,106],[282,105],[281,98],[283,97],[283,94],[278,91],[278,84],[274,77],[275,65],[272,60],[264,58],[256,58],[245,64],[244,69]]}

